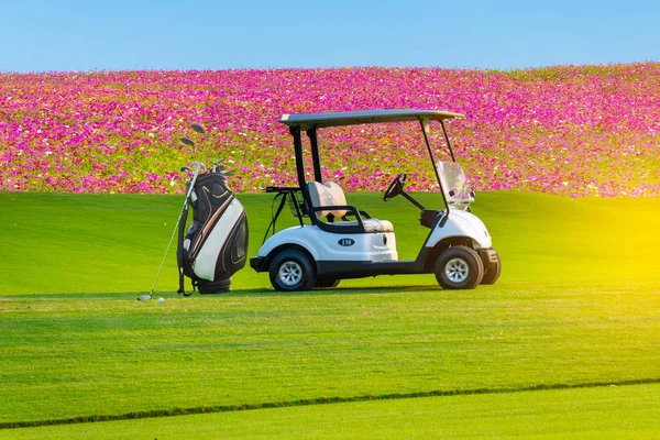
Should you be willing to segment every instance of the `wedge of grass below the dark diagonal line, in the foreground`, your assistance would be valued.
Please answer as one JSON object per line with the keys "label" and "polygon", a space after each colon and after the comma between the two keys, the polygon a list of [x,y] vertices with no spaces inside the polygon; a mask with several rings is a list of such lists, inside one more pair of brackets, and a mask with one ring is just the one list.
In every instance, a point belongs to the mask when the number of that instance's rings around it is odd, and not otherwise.
{"label": "wedge of grass below the dark diagonal line, in the foreground", "polygon": [[15,429],[4,439],[650,439],[660,385],[360,402]]}

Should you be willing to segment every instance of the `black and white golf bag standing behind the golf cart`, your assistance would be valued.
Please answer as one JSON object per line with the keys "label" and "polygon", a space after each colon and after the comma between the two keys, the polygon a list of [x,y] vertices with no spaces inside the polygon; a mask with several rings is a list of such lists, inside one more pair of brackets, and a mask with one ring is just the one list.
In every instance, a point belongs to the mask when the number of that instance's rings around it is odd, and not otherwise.
{"label": "black and white golf bag standing behind the golf cart", "polygon": [[[248,260],[248,217],[245,209],[226,185],[226,176],[216,168],[193,179],[189,204],[178,224],[177,263],[179,294],[186,295],[184,275],[200,294],[220,294],[231,289],[231,276]],[[190,189],[186,185],[186,194]],[[188,227],[188,207],[193,223]],[[190,295],[190,294],[187,294]]]}

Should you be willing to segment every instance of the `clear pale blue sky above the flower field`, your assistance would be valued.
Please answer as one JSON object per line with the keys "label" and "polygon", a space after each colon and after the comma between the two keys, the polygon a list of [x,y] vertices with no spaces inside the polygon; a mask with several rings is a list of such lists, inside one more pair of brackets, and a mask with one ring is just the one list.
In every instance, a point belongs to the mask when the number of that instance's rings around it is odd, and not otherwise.
{"label": "clear pale blue sky above the flower field", "polygon": [[0,0],[0,72],[660,61],[657,1]]}

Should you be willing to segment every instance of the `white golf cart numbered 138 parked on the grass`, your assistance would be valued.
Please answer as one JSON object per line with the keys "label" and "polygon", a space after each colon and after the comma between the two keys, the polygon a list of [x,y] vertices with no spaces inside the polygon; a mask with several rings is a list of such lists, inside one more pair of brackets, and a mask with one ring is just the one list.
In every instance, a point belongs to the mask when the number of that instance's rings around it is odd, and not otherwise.
{"label": "white golf cart numbered 138 parked on the grass", "polygon": [[[299,226],[264,239],[257,255],[250,260],[252,268],[268,272],[273,287],[285,292],[334,287],[343,278],[395,274],[432,273],[444,289],[494,284],[502,263],[486,227],[470,212],[474,193],[455,162],[444,124],[446,119],[462,118],[460,113],[413,109],[282,116],[279,122],[294,138],[299,186],[266,189],[282,198],[271,226],[275,232],[275,221],[287,198]],[[422,206],[404,190],[406,173],[397,175],[385,190],[384,201],[405,197],[420,210],[420,224],[430,229],[417,258],[410,261],[398,260],[389,221],[374,219],[349,205],[339,185],[323,182],[317,138],[322,128],[399,121],[419,123],[443,201],[441,209]],[[440,122],[452,162],[436,162],[429,144],[430,121]],[[305,178],[302,132],[310,141],[314,166],[314,180],[309,183]]]}

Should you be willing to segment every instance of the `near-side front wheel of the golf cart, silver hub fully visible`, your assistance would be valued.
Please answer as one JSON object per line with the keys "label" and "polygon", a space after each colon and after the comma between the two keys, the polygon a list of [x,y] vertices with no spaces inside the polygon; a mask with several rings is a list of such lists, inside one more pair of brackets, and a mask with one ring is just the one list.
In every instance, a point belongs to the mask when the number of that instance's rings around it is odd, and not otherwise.
{"label": "near-side front wheel of the golf cart, silver hub fully visible", "polygon": [[451,246],[436,261],[436,279],[446,290],[473,289],[484,276],[484,263],[468,246]]}

